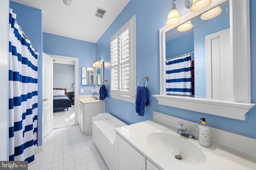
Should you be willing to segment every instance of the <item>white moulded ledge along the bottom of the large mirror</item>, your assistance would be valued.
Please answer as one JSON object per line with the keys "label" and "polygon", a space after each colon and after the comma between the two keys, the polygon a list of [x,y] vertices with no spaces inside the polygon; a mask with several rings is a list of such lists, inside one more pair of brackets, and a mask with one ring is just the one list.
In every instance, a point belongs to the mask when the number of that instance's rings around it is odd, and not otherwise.
{"label": "white moulded ledge along the bottom of the large mirror", "polygon": [[247,118],[246,113],[250,111],[252,107],[256,106],[256,104],[253,103],[229,102],[204,98],[164,95],[153,96],[158,100],[158,104],[160,105],[198,111],[238,120],[245,120]]}

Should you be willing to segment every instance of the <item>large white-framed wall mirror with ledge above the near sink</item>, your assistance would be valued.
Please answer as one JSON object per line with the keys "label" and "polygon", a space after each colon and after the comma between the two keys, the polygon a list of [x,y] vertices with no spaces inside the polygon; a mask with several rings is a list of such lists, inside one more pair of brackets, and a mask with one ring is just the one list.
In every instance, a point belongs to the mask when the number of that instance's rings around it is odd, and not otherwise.
{"label": "large white-framed wall mirror with ledge above the near sink", "polygon": [[[217,6],[222,9],[217,17],[201,19],[204,12]],[[190,22],[192,29],[160,29],[160,95],[154,97],[162,105],[245,120],[254,106],[250,96],[249,0],[212,0],[208,9],[180,18],[181,25]],[[190,65],[170,68],[178,60],[190,61]],[[189,67],[192,74],[180,79],[191,79],[190,85],[174,80],[173,70]]]}

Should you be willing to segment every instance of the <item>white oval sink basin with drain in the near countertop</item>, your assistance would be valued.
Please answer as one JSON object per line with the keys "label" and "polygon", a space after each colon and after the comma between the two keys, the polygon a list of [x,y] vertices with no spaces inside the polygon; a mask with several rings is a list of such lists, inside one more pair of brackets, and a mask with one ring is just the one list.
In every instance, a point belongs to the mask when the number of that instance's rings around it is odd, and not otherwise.
{"label": "white oval sink basin with drain in the near countertop", "polygon": [[[147,137],[149,145],[156,152],[160,152],[160,154],[170,159],[188,164],[204,163],[206,161],[204,152],[187,140],[192,139],[184,139],[183,137],[162,132],[150,133]],[[176,155],[181,156],[182,159],[175,158]]]}

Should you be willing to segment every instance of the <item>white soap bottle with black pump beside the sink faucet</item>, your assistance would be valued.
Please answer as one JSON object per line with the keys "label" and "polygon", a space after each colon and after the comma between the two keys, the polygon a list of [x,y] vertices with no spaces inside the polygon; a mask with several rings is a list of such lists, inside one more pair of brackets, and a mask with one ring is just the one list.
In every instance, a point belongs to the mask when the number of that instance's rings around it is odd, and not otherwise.
{"label": "white soap bottle with black pump beside the sink faucet", "polygon": [[210,147],[210,127],[206,125],[205,118],[200,119],[202,120],[202,124],[199,124],[199,144],[204,147]]}

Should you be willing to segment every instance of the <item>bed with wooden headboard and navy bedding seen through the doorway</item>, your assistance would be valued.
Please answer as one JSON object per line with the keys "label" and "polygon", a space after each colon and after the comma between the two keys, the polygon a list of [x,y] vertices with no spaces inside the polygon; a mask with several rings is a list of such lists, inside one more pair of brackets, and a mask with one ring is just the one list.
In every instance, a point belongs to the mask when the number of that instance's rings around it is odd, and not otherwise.
{"label": "bed with wooden headboard and navy bedding seen through the doorway", "polygon": [[66,88],[53,88],[53,111],[71,107],[72,101],[68,98]]}

